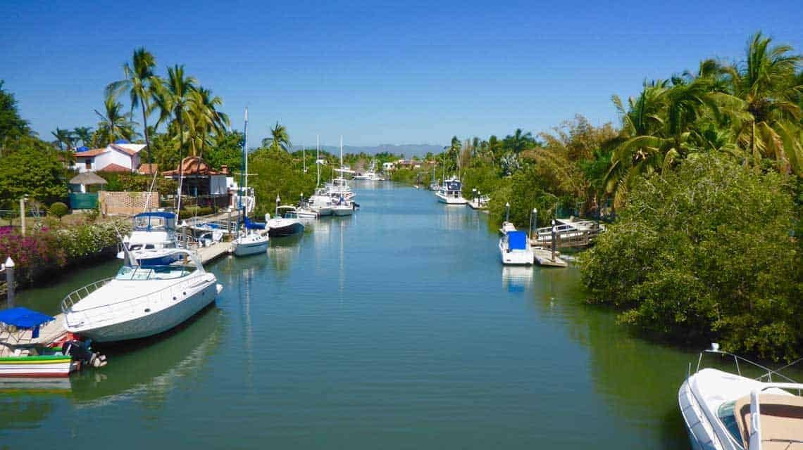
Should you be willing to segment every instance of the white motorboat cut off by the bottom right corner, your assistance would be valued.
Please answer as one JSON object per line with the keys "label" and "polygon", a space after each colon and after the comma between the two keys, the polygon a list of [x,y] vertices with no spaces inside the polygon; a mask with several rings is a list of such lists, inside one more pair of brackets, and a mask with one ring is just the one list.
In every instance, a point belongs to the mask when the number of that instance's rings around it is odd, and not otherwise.
{"label": "white motorboat cut off by the bottom right corner", "polygon": [[[733,358],[736,373],[700,369],[703,355]],[[800,360],[798,360],[799,362]],[[785,368],[788,368],[786,366]],[[749,378],[742,371],[762,372]],[[691,447],[717,450],[803,448],[803,383],[711,344],[678,391]]]}

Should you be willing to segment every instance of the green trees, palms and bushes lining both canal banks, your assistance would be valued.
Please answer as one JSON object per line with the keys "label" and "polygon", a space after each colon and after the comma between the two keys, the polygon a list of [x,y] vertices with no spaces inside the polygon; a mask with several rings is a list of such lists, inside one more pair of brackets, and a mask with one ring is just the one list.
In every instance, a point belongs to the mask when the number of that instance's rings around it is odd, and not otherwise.
{"label": "green trees, palms and bushes lining both canal banks", "polygon": [[[533,208],[541,226],[570,215],[613,221],[581,255],[589,302],[668,342],[719,341],[728,351],[791,360],[803,353],[801,62],[795,49],[758,32],[736,62],[704,59],[694,71],[646,81],[628,99],[613,95],[619,124],[595,127],[577,115],[536,135],[518,128],[503,138],[454,136],[442,153],[409,160],[389,152],[344,160],[358,171],[372,160],[405,160],[391,180],[421,186],[433,182],[433,170],[435,180],[457,175],[464,197],[491,197],[494,222],[508,202],[519,225]],[[148,51],[134,51],[124,78],[99,99],[95,128],[56,128],[52,142],[31,131],[0,82],[0,208],[13,212],[25,194],[45,208],[64,201],[72,175],[64,163],[79,144],[138,141],[148,144],[142,162],[161,171],[200,156],[238,172],[243,134],[219,111],[223,100],[181,65],[165,76],[156,68]],[[271,213],[277,196],[294,204],[313,193],[315,148],[305,157],[293,148],[279,123],[249,148],[257,215]],[[322,151],[321,159],[327,179],[336,157]],[[149,179],[116,176],[110,184],[141,190]],[[175,189],[169,180],[158,187],[162,195]]]}

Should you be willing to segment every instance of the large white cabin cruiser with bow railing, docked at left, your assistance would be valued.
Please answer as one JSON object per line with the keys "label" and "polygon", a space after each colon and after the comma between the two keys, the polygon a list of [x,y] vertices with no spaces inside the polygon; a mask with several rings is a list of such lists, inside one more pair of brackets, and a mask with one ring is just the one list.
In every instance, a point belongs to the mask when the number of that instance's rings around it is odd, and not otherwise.
{"label": "large white cabin cruiser with bow railing, docked at left", "polygon": [[198,255],[165,266],[125,265],[117,275],[84,286],[61,302],[65,329],[96,342],[145,338],[177,326],[214,302],[222,290]]}

